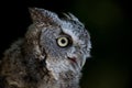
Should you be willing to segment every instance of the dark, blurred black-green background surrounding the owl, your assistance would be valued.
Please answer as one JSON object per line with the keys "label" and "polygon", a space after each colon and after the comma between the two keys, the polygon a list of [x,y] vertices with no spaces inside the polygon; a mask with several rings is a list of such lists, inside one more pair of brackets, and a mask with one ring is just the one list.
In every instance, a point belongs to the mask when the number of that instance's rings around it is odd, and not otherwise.
{"label": "dark, blurred black-green background surrounding the owl", "polygon": [[132,88],[132,10],[128,0],[1,0],[0,58],[31,24],[29,7],[72,12],[85,23],[92,42],[82,88]]}

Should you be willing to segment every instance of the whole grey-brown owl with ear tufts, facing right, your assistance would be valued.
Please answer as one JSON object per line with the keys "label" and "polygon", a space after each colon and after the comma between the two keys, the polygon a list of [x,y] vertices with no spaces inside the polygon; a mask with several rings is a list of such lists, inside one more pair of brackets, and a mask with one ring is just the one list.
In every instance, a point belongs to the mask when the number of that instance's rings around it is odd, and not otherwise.
{"label": "whole grey-brown owl with ear tufts, facing right", "polygon": [[13,43],[0,65],[0,88],[79,88],[90,36],[72,13],[30,9],[33,24]]}

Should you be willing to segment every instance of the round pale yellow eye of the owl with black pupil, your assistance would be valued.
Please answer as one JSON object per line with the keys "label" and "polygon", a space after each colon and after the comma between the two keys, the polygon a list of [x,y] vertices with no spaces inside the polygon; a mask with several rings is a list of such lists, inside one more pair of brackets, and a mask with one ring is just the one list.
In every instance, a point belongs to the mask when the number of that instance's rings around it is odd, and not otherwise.
{"label": "round pale yellow eye of the owl with black pupil", "polygon": [[65,37],[65,36],[63,36],[63,37],[58,37],[57,38],[57,44],[58,44],[58,46],[61,46],[61,47],[66,47],[66,46],[68,46],[69,45],[69,38],[68,37]]}

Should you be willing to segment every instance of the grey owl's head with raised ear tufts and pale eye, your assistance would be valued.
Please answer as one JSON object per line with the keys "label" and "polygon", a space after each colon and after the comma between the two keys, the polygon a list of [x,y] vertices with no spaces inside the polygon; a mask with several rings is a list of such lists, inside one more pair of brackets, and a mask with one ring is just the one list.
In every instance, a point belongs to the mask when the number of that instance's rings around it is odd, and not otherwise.
{"label": "grey owl's head with raised ear tufts and pale eye", "polygon": [[53,73],[79,73],[90,56],[90,35],[72,13],[59,18],[56,13],[32,8],[33,24],[25,34],[29,53],[44,61]]}

